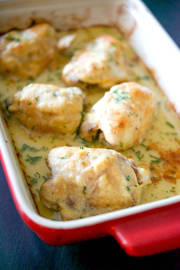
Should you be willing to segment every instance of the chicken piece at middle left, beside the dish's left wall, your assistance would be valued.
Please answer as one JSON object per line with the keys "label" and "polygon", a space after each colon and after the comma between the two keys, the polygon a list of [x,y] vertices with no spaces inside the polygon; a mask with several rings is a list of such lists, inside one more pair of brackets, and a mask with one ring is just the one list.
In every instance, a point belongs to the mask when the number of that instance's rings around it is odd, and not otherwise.
{"label": "chicken piece at middle left, beside the dish's left wall", "polygon": [[38,134],[71,134],[81,121],[84,92],[76,87],[31,83],[16,92],[11,119]]}

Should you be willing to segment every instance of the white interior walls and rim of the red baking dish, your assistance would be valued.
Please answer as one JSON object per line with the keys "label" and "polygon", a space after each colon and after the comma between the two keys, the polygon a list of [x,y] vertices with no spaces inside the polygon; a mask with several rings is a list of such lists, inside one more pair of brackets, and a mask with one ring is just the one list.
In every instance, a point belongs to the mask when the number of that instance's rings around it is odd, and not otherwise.
{"label": "white interior walls and rim of the red baking dish", "polygon": [[[119,26],[137,54],[154,71],[159,86],[180,113],[178,46],[167,35],[155,17],[141,1],[0,1],[0,32],[26,28],[32,19],[47,19],[56,28],[68,30],[91,25]],[[21,210],[35,223],[49,228],[68,229],[89,226],[180,201],[180,195],[138,205],[120,211],[73,221],[53,221],[41,217],[36,210],[28,185],[16,158],[8,130],[0,119],[0,148],[13,192]]]}

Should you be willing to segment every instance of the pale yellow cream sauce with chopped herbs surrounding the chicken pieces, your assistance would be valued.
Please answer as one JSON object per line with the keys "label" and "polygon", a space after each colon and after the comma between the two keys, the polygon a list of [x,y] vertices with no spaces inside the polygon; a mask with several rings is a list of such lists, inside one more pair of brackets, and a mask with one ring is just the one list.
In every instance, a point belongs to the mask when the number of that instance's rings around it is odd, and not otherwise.
{"label": "pale yellow cream sauce with chopped herbs surrounding the chicken pieces", "polygon": [[[51,175],[46,164],[46,158],[50,150],[57,146],[87,145],[76,135],[45,137],[28,133],[18,123],[10,121],[5,110],[5,100],[13,97],[16,91],[21,90],[31,82],[64,86],[60,74],[63,66],[70,60],[74,50],[79,49],[85,42],[105,33],[114,35],[125,45],[124,56],[128,67],[132,70],[131,81],[149,87],[156,96],[156,114],[145,140],[141,145],[136,145],[121,152],[122,155],[133,158],[139,166],[147,164],[151,169],[152,184],[143,191],[140,203],[152,202],[180,194],[180,119],[168,104],[167,98],[161,92],[152,74],[117,29],[108,26],[94,26],[68,32],[68,34],[72,33],[77,35],[75,42],[63,53],[59,53],[56,63],[53,63],[51,67],[47,68],[33,81],[21,79],[15,82],[2,75],[0,80],[0,100],[5,111],[4,117],[7,120],[13,145],[18,153],[19,162],[25,173],[39,214],[53,220],[61,219],[60,213],[49,210],[39,199],[40,187],[45,179]],[[58,32],[59,37],[66,34],[67,32]],[[96,86],[87,88],[85,91],[89,106],[98,101],[105,92],[105,90]],[[103,145],[97,142],[88,146],[104,148]]]}

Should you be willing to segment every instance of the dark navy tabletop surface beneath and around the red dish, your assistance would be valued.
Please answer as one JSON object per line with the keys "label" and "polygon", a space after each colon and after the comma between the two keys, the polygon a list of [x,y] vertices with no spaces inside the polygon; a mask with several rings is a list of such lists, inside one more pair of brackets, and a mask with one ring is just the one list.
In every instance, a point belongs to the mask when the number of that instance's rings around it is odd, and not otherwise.
{"label": "dark navy tabletop surface beneath and around the red dish", "polygon": [[[180,1],[144,2],[180,47]],[[136,258],[111,236],[62,247],[45,244],[19,217],[0,165],[0,269],[131,268],[180,269],[180,249]]]}

